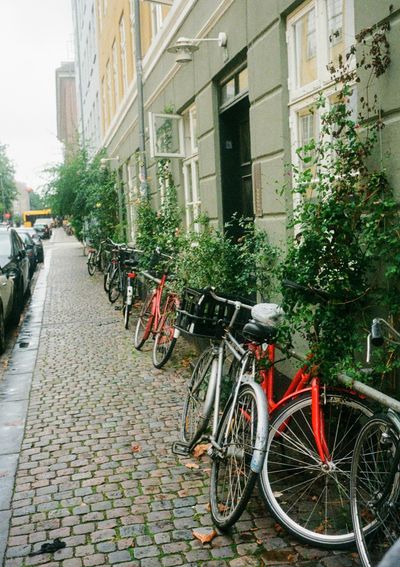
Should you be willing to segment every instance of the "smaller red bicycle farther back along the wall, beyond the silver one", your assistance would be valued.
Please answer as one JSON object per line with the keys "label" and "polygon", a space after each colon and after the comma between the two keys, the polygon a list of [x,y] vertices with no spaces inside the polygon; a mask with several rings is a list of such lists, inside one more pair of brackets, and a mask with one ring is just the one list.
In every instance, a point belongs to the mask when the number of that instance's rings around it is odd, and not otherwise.
{"label": "smaller red bicycle farther back along the wall, beyond the silver one", "polygon": [[[171,260],[170,256],[160,254],[164,259]],[[162,368],[170,359],[175,343],[179,337],[179,331],[174,328],[176,310],[179,300],[176,293],[166,289],[168,269],[164,269],[161,279],[141,272],[142,276],[150,282],[155,283],[143,302],[135,330],[135,348],[140,350],[150,335],[154,338],[153,365]]]}

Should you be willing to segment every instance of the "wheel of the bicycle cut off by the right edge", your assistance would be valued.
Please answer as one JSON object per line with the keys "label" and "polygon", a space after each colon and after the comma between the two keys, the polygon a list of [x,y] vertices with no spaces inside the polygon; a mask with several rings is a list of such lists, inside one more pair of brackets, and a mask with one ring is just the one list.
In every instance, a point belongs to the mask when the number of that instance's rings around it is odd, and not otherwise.
{"label": "wheel of the bicycle cut off by the right edge", "polygon": [[358,553],[365,567],[378,565],[400,537],[399,443],[399,432],[381,415],[365,424],[354,448],[351,511]]}

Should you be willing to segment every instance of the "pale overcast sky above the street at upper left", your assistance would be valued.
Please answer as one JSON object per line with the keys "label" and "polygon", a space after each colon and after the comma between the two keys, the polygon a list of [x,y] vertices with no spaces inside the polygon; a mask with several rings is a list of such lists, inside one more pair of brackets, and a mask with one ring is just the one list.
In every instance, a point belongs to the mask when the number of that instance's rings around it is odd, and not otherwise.
{"label": "pale overcast sky above the street at upper left", "polygon": [[16,179],[37,189],[62,159],[55,70],[73,59],[71,0],[0,0],[0,143]]}

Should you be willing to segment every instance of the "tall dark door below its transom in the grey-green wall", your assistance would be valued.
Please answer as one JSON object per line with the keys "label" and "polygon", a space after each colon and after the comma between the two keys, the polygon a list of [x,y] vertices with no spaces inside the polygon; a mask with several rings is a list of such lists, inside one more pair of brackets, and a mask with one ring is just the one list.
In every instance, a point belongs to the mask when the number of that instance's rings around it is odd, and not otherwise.
{"label": "tall dark door below its transom in the grey-green wall", "polygon": [[[224,223],[237,217],[253,217],[249,99],[244,97],[220,114],[222,206]],[[241,235],[235,223],[227,229]]]}

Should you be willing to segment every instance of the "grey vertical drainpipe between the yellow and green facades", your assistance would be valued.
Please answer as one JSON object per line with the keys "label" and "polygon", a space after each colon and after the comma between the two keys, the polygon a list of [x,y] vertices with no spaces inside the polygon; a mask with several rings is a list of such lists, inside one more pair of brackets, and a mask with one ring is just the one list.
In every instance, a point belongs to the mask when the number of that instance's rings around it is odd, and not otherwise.
{"label": "grey vertical drainpipe between the yellow and green facades", "polygon": [[140,34],[140,6],[139,0],[134,2],[134,32],[135,32],[135,66],[136,66],[136,88],[139,123],[139,151],[140,151],[140,197],[147,199],[149,188],[147,184],[146,167],[146,135],[144,126],[144,101],[143,101],[143,69],[142,69],[142,45]]}

